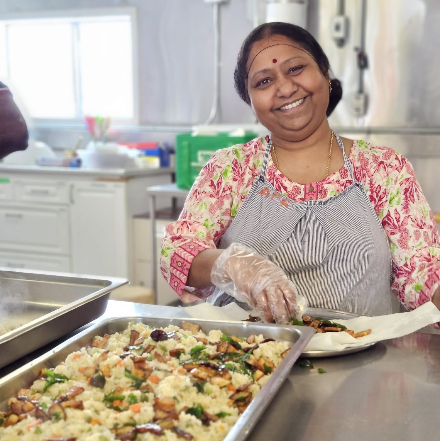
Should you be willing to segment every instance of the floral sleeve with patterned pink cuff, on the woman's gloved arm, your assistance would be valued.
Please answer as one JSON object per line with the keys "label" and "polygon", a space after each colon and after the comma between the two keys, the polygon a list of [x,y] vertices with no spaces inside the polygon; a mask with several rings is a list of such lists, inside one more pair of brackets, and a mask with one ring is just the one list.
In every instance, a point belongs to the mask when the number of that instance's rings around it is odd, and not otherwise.
{"label": "floral sleeve with patterned pink cuff, on the woman's gloved arm", "polygon": [[200,172],[176,222],[167,225],[162,241],[161,271],[184,301],[206,298],[212,288],[185,287],[196,255],[215,248],[231,222],[232,164],[229,150],[219,150]]}

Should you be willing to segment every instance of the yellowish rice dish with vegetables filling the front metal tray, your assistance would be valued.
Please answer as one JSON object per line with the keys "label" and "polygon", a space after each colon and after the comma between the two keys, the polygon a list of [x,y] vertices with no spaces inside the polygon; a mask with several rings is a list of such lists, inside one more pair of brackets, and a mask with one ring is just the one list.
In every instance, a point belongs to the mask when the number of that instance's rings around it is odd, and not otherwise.
{"label": "yellowish rice dish with vegetables filling the front metal tray", "polygon": [[0,440],[212,440],[228,434],[289,351],[285,341],[130,323],[42,370],[0,412]]}

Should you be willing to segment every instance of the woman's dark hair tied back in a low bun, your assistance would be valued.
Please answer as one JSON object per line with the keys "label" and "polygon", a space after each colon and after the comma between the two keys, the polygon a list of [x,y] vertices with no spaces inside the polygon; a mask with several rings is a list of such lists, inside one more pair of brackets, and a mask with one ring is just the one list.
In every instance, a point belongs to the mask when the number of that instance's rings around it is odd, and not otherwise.
{"label": "woman's dark hair tied back in a low bun", "polygon": [[[252,45],[259,40],[263,40],[270,35],[283,35],[290,38],[290,40],[300,44],[303,49],[310,53],[310,55],[316,61],[316,64],[321,71],[326,74],[330,69],[330,63],[327,56],[323,52],[320,44],[308,31],[300,26],[296,26],[290,23],[272,22],[264,23],[256,27],[246,37],[241,45],[240,52],[237,57],[237,66],[234,72],[235,90],[240,95],[241,99],[247,104],[251,104],[248,91],[246,89],[246,79],[248,78],[248,72],[246,71],[246,64],[248,63],[249,53],[251,52]],[[327,116],[333,112],[336,105],[342,98],[342,85],[337,78],[331,79],[331,92],[330,100],[327,107]]]}

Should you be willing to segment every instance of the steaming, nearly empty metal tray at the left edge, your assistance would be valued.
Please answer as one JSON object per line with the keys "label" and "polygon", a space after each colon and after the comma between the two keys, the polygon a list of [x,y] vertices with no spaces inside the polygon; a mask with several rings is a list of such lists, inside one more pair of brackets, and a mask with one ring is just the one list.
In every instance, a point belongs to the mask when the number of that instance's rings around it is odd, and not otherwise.
{"label": "steaming, nearly empty metal tray at the left edge", "polygon": [[104,314],[119,278],[0,268],[0,368]]}

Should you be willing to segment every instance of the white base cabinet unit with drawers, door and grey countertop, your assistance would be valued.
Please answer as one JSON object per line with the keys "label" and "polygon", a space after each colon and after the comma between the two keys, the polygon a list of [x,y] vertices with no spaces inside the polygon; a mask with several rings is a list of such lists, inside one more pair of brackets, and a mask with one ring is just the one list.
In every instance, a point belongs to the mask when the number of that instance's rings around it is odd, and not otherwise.
{"label": "white base cabinet unit with drawers, door and grey countertop", "polygon": [[133,282],[132,218],[149,209],[146,188],[171,178],[170,169],[6,171],[0,164],[0,266]]}

